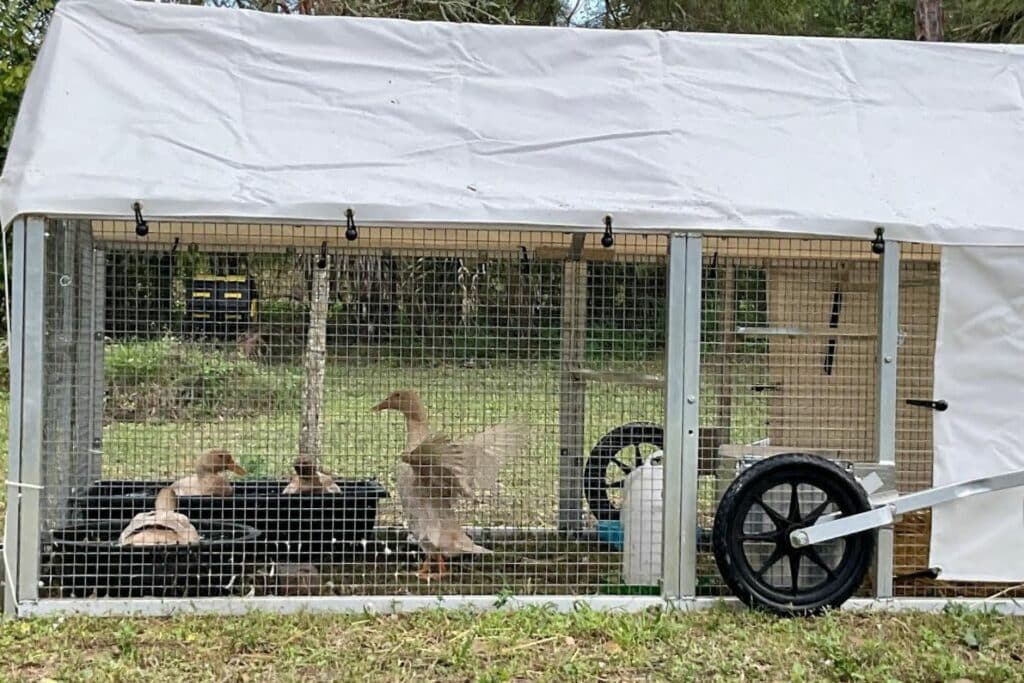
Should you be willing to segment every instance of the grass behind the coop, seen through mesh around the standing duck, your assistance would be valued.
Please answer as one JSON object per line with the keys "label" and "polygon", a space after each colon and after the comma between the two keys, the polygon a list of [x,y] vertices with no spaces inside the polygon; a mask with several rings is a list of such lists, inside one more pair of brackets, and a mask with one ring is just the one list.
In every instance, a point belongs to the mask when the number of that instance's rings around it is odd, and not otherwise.
{"label": "grass behind the coop, seen through mesh around the standing duck", "polygon": [[[293,367],[261,369],[286,382]],[[488,525],[551,525],[558,501],[558,368],[528,366],[465,369],[396,368],[331,364],[325,380],[325,466],[337,476],[377,478],[394,492],[397,454],[406,430],[400,416],[370,408],[396,388],[422,394],[435,428],[453,434],[514,419],[530,427],[528,453],[507,463],[497,492],[467,522]],[[659,391],[595,385],[587,397],[584,442],[632,420],[657,420]],[[167,477],[187,473],[196,456],[220,445],[237,455],[252,477],[287,477],[299,440],[299,410],[258,410],[247,417],[111,423],[103,433],[103,476]],[[400,524],[397,499],[383,502],[381,522]]]}

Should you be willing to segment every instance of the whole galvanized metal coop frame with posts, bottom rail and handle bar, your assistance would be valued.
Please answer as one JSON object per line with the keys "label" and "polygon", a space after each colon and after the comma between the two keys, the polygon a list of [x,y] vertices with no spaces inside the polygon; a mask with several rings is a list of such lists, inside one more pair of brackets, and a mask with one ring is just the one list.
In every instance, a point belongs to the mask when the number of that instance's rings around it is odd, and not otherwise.
{"label": "whole galvanized metal coop frame with posts, bottom rail and handle bar", "polygon": [[[698,234],[675,233],[670,239],[670,267],[668,275],[668,338],[665,376],[666,419],[665,419],[665,525],[664,563],[662,597],[615,597],[589,596],[526,596],[505,598],[504,596],[352,596],[352,597],[302,597],[302,598],[238,598],[206,599],[38,599],[40,562],[40,503],[42,498],[42,451],[43,451],[43,386],[45,358],[46,310],[43,305],[46,294],[46,240],[47,222],[40,217],[23,218],[15,221],[14,268],[11,289],[11,322],[14,334],[10,339],[11,365],[11,409],[10,447],[8,475],[8,508],[5,539],[5,561],[8,578],[6,582],[4,607],[8,613],[22,616],[48,615],[55,613],[82,614],[171,614],[171,613],[243,613],[252,609],[289,612],[298,610],[330,611],[375,611],[396,612],[421,608],[454,606],[477,609],[498,608],[503,604],[515,608],[528,605],[543,605],[555,609],[568,610],[581,602],[595,609],[638,610],[651,606],[703,609],[722,603],[738,605],[734,599],[696,598],[696,527],[697,511],[697,445],[699,429],[699,353],[700,353],[700,288],[701,288],[701,238]],[[103,254],[78,246],[82,254],[91,252],[92,266],[102,268]],[[83,257],[84,258],[84,257]],[[84,260],[80,263],[84,264]],[[900,249],[897,243],[887,243],[882,258],[882,272],[879,290],[879,356],[878,356],[878,411],[876,416],[876,453],[880,467],[895,465],[895,421],[896,421],[896,350],[899,325],[899,264]],[[582,267],[581,267],[582,266]],[[585,314],[586,308],[586,264],[569,261],[565,269],[565,307],[568,314],[567,330],[569,350],[582,345],[586,321],[580,321],[574,313],[578,308]],[[581,276],[582,274],[582,276]],[[570,276],[574,275],[574,276]],[[102,329],[102,278],[94,279],[97,291],[90,294],[93,308],[79,311],[81,330],[77,340],[91,337],[88,355],[90,367],[89,390],[102,394],[102,340],[96,331]],[[584,284],[581,294],[579,284]],[[571,312],[570,312],[571,311]],[[85,321],[88,321],[88,325]],[[563,340],[565,337],[563,337]],[[571,353],[570,353],[571,355]],[[564,360],[563,360],[564,362]],[[582,432],[582,388],[586,379],[575,375],[579,368],[570,361],[563,366],[563,381],[569,380],[570,390],[563,393],[563,410],[571,418],[563,423],[563,447],[572,446],[569,453],[563,450],[562,477],[563,493],[560,506],[559,526],[562,530],[573,530],[583,523],[582,509],[573,509],[581,504],[579,496],[579,469],[583,453],[574,447],[577,431]],[[579,395],[578,394],[579,391]],[[96,401],[101,407],[101,401]],[[95,408],[95,407],[94,407]],[[99,408],[101,410],[101,408]],[[83,470],[91,471],[98,465],[101,447],[101,414],[89,424],[92,441],[89,447],[88,465]],[[582,444],[582,433],[580,434]],[[84,454],[80,454],[84,455]],[[880,504],[874,510],[846,518],[822,518],[810,528],[795,531],[795,545],[821,543],[830,539],[848,536],[860,530],[882,528],[879,532],[879,554],[877,557],[877,598],[876,600],[850,600],[846,609],[919,609],[938,610],[950,603],[963,604],[972,609],[994,610],[1008,614],[1024,614],[1024,604],[1013,599],[998,600],[947,600],[947,599],[893,599],[892,595],[892,529],[891,524],[899,514],[924,509],[958,498],[979,495],[992,490],[1024,485],[1024,471],[986,477],[969,482],[951,484],[938,488],[899,497]],[[571,496],[570,496],[571,494]]]}

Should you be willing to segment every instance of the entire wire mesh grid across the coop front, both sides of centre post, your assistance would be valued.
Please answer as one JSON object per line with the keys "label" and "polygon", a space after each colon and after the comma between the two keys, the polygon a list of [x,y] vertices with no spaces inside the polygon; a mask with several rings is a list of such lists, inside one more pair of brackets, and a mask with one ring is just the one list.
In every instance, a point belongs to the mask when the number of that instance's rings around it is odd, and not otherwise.
{"label": "entire wire mesh grid across the coop front, both sides of centre post", "polygon": [[[667,238],[133,227],[50,223],[44,596],[656,592]],[[879,262],[839,241],[706,238],[705,253],[707,531],[751,454],[873,460]],[[905,245],[903,492],[931,480],[931,416],[904,398],[930,396],[937,297],[938,251]],[[501,424],[526,445],[486,489],[459,497],[427,472],[403,500],[407,418],[371,411],[397,389],[457,453]],[[245,474],[197,474],[210,449]],[[300,453],[313,474],[286,494]],[[207,494],[177,500],[198,544],[119,543],[185,477]],[[209,495],[224,482],[230,496]],[[897,575],[927,563],[927,523],[897,525]],[[902,596],[1000,588],[897,582]],[[706,545],[698,592],[726,593]]]}

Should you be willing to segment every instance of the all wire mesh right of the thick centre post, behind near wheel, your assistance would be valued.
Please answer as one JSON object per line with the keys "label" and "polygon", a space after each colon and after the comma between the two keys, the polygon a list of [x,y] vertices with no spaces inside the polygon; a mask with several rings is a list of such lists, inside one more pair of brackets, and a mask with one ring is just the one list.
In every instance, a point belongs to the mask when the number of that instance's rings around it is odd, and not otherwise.
{"label": "all wire mesh right of the thick centre post, behind near wheel", "polygon": [[[735,476],[780,453],[810,453],[851,474],[877,460],[876,429],[880,259],[866,242],[706,239],[701,372],[701,520]],[[907,494],[932,484],[931,399],[938,313],[939,250],[901,250],[896,382],[895,485]],[[709,464],[714,463],[714,464]],[[866,467],[861,471],[866,471]],[[766,490],[743,521],[749,564],[780,591],[812,591],[844,563],[844,540],[822,544],[794,566],[776,554],[776,522],[787,515],[828,514],[820,490],[780,484]],[[796,511],[790,507],[797,501]],[[769,531],[772,531],[769,533]],[[895,593],[899,597],[1015,594],[999,585],[934,581],[928,569],[930,512],[895,525]],[[724,587],[701,554],[698,589]],[[873,577],[861,593],[869,595]],[[1009,593],[1008,593],[1009,590]],[[1019,592],[1019,589],[1018,589]]]}

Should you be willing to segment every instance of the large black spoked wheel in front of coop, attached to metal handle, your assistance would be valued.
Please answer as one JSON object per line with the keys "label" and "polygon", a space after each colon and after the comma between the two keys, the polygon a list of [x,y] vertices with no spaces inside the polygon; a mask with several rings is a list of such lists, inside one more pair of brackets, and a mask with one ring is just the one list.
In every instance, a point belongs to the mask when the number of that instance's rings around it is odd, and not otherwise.
{"label": "large black spoked wheel in front of coop, attached to metal handle", "polygon": [[839,465],[806,454],[766,458],[739,473],[715,515],[715,561],[751,607],[801,615],[839,607],[860,587],[874,554],[871,531],[795,548],[790,532],[819,517],[870,509]]}

